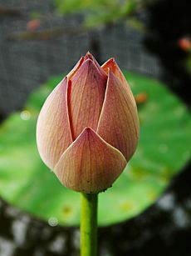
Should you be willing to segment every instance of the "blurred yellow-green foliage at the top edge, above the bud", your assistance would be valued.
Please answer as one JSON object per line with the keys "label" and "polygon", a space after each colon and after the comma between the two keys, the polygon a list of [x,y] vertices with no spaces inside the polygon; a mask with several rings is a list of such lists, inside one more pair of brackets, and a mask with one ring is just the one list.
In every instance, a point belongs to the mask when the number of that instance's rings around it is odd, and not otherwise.
{"label": "blurred yellow-green foliage at the top edge, above the bud", "polygon": [[85,26],[97,27],[114,23],[134,13],[140,0],[55,0],[59,13],[86,13]]}

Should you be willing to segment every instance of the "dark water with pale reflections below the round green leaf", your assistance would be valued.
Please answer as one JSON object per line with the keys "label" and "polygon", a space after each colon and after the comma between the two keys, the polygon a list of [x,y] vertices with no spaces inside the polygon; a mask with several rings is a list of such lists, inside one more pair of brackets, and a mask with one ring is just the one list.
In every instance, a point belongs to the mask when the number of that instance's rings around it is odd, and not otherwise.
{"label": "dark water with pale reflections below the round green leaf", "polygon": [[[129,222],[99,230],[100,256],[191,255],[190,165],[153,207]],[[79,228],[32,218],[0,201],[0,256],[79,255]]]}

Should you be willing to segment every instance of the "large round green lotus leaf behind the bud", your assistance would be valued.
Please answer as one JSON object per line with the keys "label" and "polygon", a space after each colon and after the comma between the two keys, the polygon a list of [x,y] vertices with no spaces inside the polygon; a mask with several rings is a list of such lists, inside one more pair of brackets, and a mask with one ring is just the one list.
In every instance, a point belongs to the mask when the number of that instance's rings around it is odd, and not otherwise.
{"label": "large round green lotus leaf behind the bud", "polygon": [[[191,118],[184,104],[162,83],[125,73],[140,93],[140,143],[113,187],[99,196],[99,224],[119,223],[141,213],[167,188],[190,157]],[[52,78],[32,93],[26,108],[0,128],[0,193],[38,218],[67,226],[80,221],[79,193],[64,188],[37,153],[36,122],[47,95],[61,80]]]}

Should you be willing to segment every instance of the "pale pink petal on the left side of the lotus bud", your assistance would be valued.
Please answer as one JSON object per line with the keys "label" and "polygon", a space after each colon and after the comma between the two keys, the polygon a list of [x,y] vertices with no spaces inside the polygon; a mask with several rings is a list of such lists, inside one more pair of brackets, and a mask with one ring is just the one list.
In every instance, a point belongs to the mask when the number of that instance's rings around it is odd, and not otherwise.
{"label": "pale pink petal on the left side of the lotus bud", "polygon": [[49,168],[54,168],[72,143],[66,86],[67,78],[64,78],[47,98],[37,120],[37,148]]}

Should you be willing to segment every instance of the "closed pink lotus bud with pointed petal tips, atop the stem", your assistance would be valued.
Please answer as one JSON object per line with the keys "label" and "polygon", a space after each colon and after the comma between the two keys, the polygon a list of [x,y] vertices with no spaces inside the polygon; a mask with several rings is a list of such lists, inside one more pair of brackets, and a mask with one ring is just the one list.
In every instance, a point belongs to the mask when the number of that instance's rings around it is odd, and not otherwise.
{"label": "closed pink lotus bud with pointed petal tips, atop the stem", "polygon": [[114,58],[91,53],[48,96],[37,120],[37,148],[67,188],[99,193],[130,160],[139,139],[135,98]]}

